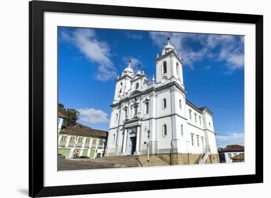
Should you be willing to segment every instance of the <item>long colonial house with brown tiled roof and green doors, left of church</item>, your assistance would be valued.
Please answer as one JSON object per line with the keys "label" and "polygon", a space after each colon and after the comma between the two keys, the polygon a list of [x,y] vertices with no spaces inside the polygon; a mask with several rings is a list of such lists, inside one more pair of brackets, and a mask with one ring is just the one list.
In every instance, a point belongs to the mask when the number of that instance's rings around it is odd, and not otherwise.
{"label": "long colonial house with brown tiled roof and green doors, left of church", "polygon": [[78,150],[79,156],[101,158],[105,152],[108,132],[92,129],[81,124],[63,127],[59,132],[58,153],[72,158],[73,151]]}

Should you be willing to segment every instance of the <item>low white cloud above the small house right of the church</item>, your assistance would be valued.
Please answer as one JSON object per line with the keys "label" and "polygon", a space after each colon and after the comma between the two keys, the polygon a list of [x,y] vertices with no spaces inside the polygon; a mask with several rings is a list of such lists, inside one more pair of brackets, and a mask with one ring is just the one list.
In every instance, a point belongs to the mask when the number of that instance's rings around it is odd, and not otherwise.
{"label": "low white cloud above the small house right of the church", "polygon": [[243,132],[231,132],[227,135],[216,135],[217,147],[226,147],[229,144],[244,145],[244,133]]}

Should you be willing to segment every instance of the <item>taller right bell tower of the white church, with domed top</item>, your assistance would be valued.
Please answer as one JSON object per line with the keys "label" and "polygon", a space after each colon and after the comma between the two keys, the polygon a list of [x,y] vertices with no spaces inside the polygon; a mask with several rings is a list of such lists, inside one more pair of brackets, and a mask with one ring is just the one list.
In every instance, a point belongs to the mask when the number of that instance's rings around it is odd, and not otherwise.
{"label": "taller right bell tower of the white church, with domed top", "polygon": [[183,61],[178,56],[175,48],[169,43],[164,47],[161,56],[157,54],[156,62],[156,82],[167,84],[170,82],[177,82],[183,89]]}

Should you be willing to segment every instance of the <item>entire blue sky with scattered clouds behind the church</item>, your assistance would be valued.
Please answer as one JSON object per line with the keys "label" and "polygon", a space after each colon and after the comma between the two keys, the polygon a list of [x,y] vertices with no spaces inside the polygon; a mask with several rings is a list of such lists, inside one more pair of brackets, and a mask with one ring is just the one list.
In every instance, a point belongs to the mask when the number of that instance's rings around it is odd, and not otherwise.
{"label": "entire blue sky with scattered clouds behind the church", "polygon": [[59,27],[59,102],[80,112],[78,122],[107,131],[117,75],[131,60],[151,79],[168,36],[184,61],[186,98],[214,113],[217,146],[243,145],[243,36]]}

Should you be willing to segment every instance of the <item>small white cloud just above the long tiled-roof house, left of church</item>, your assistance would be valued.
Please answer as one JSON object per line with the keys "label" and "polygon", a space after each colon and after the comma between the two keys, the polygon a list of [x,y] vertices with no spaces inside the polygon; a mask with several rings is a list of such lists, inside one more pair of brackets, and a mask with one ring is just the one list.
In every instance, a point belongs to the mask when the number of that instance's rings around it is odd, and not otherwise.
{"label": "small white cloud just above the long tiled-roof house, left of church", "polygon": [[103,112],[102,110],[96,110],[94,108],[80,108],[77,109],[80,113],[80,120],[85,122],[96,124],[96,123],[109,123],[107,118],[107,113]]}

